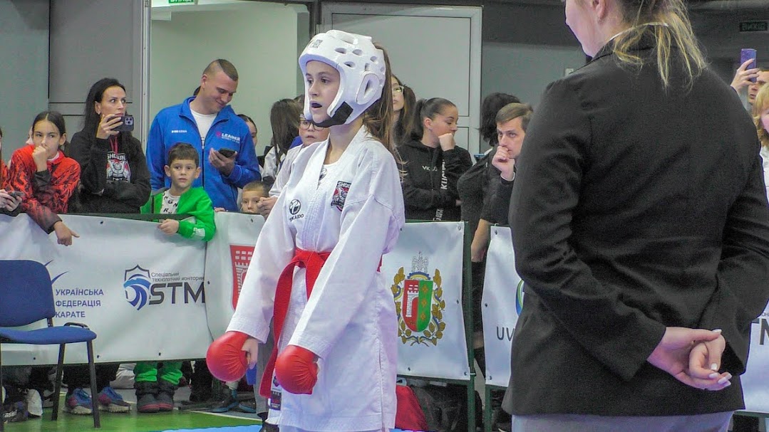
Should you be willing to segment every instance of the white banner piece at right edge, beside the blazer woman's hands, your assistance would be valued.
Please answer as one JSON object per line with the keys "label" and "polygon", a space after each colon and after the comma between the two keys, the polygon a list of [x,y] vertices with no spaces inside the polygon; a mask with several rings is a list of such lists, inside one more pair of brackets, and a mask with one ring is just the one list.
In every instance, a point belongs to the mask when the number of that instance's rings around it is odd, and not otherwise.
{"label": "white banner piece at right edge, beside the blazer woman's hands", "polygon": [[745,411],[769,413],[769,307],[751,325],[751,354],[741,376]]}

